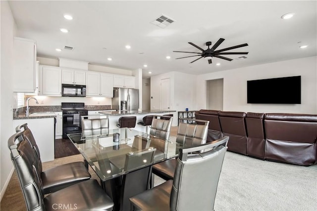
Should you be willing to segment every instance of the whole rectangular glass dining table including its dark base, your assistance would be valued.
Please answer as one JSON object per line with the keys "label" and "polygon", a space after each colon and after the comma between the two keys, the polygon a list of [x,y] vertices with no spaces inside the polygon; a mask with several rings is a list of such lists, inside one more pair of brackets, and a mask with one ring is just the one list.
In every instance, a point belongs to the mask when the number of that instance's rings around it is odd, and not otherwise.
{"label": "whole rectangular glass dining table including its dark base", "polygon": [[129,198],[147,190],[152,165],[178,155],[181,144],[126,128],[67,135],[84,162],[96,172],[114,202],[113,210],[129,210]]}

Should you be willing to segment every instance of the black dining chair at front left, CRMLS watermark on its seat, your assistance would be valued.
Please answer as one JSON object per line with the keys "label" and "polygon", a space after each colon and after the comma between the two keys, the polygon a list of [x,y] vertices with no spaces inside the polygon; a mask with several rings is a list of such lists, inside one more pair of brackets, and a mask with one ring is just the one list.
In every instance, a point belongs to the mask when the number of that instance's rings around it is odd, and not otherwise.
{"label": "black dining chair at front left, CRMLS watermark on its seat", "polygon": [[[44,197],[43,183],[37,169],[34,150],[24,135],[18,132],[8,139],[8,148],[28,211],[57,210],[111,210],[112,200],[97,180],[86,180],[58,190]],[[60,172],[61,174],[63,172]]]}

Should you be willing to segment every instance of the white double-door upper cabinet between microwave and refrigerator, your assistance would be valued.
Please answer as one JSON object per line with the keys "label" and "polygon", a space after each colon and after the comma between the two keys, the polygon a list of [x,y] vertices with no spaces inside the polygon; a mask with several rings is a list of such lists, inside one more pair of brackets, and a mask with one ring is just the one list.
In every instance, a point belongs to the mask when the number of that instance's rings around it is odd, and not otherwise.
{"label": "white double-door upper cabinet between microwave and refrigerator", "polygon": [[111,74],[89,71],[86,73],[86,96],[113,97]]}

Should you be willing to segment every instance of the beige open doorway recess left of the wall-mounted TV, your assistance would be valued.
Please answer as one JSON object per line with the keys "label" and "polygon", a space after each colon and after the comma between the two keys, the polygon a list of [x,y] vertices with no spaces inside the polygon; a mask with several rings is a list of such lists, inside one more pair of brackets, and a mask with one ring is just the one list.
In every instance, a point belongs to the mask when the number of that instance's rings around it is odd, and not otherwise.
{"label": "beige open doorway recess left of the wall-mounted TV", "polygon": [[209,110],[223,110],[223,78],[207,81],[206,108]]}

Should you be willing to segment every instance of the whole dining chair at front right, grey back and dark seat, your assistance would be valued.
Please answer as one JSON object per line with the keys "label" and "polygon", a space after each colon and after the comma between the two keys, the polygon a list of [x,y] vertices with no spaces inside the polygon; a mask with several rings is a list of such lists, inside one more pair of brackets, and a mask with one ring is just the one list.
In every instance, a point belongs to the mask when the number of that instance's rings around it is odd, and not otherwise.
{"label": "whole dining chair at front right, grey back and dark seat", "polygon": [[174,179],[131,197],[131,210],[213,210],[228,140],[180,149]]}

